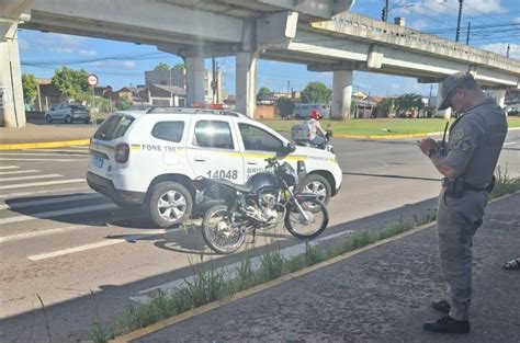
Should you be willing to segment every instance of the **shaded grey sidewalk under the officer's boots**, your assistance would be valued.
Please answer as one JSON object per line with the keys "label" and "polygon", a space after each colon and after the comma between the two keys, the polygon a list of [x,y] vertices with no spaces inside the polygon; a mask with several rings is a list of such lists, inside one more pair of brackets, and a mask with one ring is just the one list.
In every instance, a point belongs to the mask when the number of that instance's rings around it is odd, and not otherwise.
{"label": "shaded grey sidewalk under the officer's boots", "polygon": [[[520,193],[488,205],[474,239],[472,332],[425,332],[444,286],[434,227],[116,342],[520,342]],[[251,293],[251,291],[250,291]]]}

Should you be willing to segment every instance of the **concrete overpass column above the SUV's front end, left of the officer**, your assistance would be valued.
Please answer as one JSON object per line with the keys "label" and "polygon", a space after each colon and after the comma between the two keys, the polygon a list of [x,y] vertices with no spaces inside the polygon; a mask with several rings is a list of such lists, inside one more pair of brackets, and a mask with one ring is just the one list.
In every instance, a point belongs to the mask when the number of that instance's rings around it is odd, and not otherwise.
{"label": "concrete overpass column above the SUV's front end, left of the officer", "polygon": [[352,104],[353,70],[335,71],[332,76],[332,112],[331,117],[350,119]]}

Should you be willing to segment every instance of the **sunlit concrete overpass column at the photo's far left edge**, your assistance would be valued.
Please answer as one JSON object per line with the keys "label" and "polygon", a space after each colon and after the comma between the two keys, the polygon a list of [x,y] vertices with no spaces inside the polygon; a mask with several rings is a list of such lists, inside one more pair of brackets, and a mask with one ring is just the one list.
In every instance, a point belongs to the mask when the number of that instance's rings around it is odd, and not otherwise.
{"label": "sunlit concrete overpass column at the photo's far left edge", "polygon": [[0,104],[0,126],[23,127],[25,126],[25,106],[23,105],[18,48],[18,24],[11,25],[14,27],[0,30],[0,92],[3,93]]}

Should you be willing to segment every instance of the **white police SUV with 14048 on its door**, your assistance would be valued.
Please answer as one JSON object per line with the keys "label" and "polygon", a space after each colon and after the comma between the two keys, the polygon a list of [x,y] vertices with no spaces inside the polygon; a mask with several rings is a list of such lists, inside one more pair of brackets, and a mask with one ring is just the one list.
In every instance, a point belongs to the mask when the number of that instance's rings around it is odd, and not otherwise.
{"label": "white police SUV with 14048 on its door", "polygon": [[197,176],[244,184],[275,155],[307,174],[299,191],[327,203],[342,172],[329,151],[294,147],[242,114],[217,110],[152,107],[109,116],[90,141],[87,182],[121,207],[144,206],[159,227],[180,224],[196,209]]}

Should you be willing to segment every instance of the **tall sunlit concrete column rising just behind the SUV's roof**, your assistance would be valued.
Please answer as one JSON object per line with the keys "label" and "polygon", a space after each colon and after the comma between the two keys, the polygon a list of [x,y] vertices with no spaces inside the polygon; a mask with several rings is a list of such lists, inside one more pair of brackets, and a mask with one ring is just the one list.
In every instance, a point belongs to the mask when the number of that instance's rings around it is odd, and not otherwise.
{"label": "tall sunlit concrete column rising just behind the SUV's roof", "polygon": [[255,115],[257,83],[257,58],[250,53],[237,54],[236,61],[236,110],[252,118]]}

